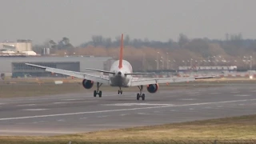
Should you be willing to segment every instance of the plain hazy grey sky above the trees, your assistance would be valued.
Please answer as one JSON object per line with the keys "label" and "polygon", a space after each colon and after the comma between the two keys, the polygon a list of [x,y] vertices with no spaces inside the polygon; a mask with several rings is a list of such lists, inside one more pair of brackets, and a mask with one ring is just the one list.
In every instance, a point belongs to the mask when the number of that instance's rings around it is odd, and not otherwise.
{"label": "plain hazy grey sky above the trees", "polygon": [[176,41],[180,33],[256,38],[255,6],[255,0],[2,0],[0,41],[66,36],[79,45],[94,34],[114,39],[121,33],[161,41]]}

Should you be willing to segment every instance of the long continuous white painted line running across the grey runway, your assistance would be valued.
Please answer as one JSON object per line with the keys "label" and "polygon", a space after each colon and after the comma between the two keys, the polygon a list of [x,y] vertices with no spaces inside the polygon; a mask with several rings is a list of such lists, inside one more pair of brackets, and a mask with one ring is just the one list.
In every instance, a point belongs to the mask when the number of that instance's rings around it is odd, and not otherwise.
{"label": "long continuous white painted line running across the grey runway", "polygon": [[97,114],[97,113],[108,113],[108,112],[116,112],[116,111],[158,109],[158,108],[178,107],[178,106],[201,106],[201,105],[209,105],[209,104],[231,103],[231,102],[247,102],[247,101],[249,101],[249,102],[250,101],[256,101],[256,98],[255,99],[234,100],[234,101],[221,101],[221,102],[190,103],[190,104],[183,104],[183,105],[151,106],[151,107],[138,107],[138,108],[130,108],[130,109],[98,110],[98,111],[84,111],[84,112],[66,113],[66,114],[46,114],[46,115],[34,115],[34,116],[16,117],[16,118],[15,117],[14,118],[0,118],[0,121],[15,120],[15,119],[27,119],[27,118],[47,118],[47,117],[76,115],[76,114]]}

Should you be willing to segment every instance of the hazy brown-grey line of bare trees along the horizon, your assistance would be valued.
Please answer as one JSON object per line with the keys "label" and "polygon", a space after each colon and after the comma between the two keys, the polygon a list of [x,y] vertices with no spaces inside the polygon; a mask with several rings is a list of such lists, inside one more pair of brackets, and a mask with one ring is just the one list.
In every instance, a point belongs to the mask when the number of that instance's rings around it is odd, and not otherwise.
{"label": "hazy brown-grey line of bare trees along the horizon", "polygon": [[[111,39],[104,38],[102,35],[94,35],[89,42],[73,46],[70,38],[64,37],[58,42],[47,40],[42,45],[34,46],[34,50],[40,52],[42,48],[49,47],[51,52],[56,54],[114,56],[116,49],[120,46],[120,39],[120,36]],[[124,45],[126,48],[129,47],[126,49],[126,57],[134,61],[138,69],[145,66],[145,62],[149,62],[150,64],[147,65],[154,69],[157,51],[165,58],[166,53],[169,52],[170,60],[175,59],[176,62],[180,62],[177,66],[190,58],[199,61],[200,58],[202,60],[213,56],[222,56],[218,61],[225,59],[230,62],[230,65],[245,66],[242,63],[242,57],[252,55],[254,58],[256,39],[242,38],[242,34],[226,34],[225,39],[189,38],[186,34],[179,34],[177,41],[169,39],[161,42],[150,41],[148,38],[130,38],[129,35],[125,35]],[[142,54],[144,54],[144,60],[142,60]],[[144,63],[139,65],[138,62]]]}

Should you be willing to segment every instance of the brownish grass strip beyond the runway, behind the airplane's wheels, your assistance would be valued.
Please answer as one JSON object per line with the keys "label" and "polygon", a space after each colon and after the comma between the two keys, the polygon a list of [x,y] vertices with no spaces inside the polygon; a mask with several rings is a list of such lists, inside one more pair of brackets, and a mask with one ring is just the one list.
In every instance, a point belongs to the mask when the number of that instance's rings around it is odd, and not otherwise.
{"label": "brownish grass strip beyond the runway, behind the airplane's wheels", "polygon": [[[54,81],[62,80],[64,83],[55,85]],[[30,97],[52,94],[93,93],[95,86],[86,90],[81,79],[70,78],[11,78],[0,81],[0,98]],[[253,84],[255,79],[249,78],[213,78],[197,80],[196,82],[170,83],[169,86],[161,84],[159,90],[182,90],[205,88],[212,86],[226,86],[226,84]],[[117,87],[101,86],[102,91],[117,91]],[[138,87],[123,88],[123,91],[138,91]]]}

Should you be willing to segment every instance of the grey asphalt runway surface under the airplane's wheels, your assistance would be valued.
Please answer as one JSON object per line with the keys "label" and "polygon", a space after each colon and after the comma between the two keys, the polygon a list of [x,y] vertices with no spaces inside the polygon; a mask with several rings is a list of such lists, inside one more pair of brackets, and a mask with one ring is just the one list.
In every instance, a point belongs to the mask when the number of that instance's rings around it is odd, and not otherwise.
{"label": "grey asphalt runway surface under the airplane's wheels", "polygon": [[[0,99],[0,135],[55,135],[256,114],[256,85]],[[170,87],[171,88],[171,87]],[[117,89],[118,91],[118,89]],[[145,91],[145,90],[144,90]]]}

